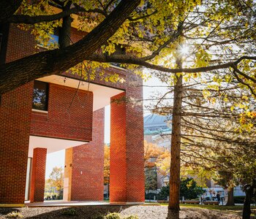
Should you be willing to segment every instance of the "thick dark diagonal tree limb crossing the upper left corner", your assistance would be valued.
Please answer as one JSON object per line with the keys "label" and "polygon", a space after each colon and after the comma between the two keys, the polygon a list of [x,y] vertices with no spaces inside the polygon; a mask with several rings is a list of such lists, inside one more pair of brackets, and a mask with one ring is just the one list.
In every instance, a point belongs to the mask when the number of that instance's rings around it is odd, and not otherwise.
{"label": "thick dark diagonal tree limb crossing the upper left corner", "polygon": [[6,93],[31,80],[67,71],[92,55],[116,33],[140,4],[140,0],[122,0],[113,12],[86,37],[68,47],[49,50],[0,66],[0,93]]}

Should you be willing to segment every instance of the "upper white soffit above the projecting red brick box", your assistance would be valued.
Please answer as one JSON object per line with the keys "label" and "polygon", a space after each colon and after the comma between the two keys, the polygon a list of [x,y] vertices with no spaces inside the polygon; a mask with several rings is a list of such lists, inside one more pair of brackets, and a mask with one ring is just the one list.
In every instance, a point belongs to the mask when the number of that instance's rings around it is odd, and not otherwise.
{"label": "upper white soffit above the projecting red brick box", "polygon": [[[38,80],[44,82],[50,82],[57,85],[63,85],[70,88],[78,88],[79,80],[63,77],[59,75],[50,75],[47,77],[41,77]],[[116,96],[118,93],[124,91],[108,88],[103,85],[96,85],[88,82],[80,82],[79,89],[83,91],[92,91],[94,93],[94,111],[99,110],[102,107],[108,106],[110,104],[110,98]]]}

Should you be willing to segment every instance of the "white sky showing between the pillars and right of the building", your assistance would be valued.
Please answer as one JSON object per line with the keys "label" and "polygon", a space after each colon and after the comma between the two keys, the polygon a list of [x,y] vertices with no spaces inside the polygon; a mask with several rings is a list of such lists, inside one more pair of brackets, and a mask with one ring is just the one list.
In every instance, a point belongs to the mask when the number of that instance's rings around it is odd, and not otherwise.
{"label": "white sky showing between the pillars and right of the building", "polygon": [[[154,93],[159,93],[165,91],[165,88],[155,87],[157,85],[162,85],[159,80],[156,78],[149,78],[146,82],[143,82],[143,99],[151,99],[151,96]],[[154,87],[152,87],[154,86]],[[144,104],[147,104],[149,101],[144,101]],[[148,115],[149,112],[144,108],[144,116]],[[110,142],[110,105],[105,107],[105,143]],[[52,172],[53,167],[58,166],[64,169],[64,159],[65,159],[65,150],[59,150],[54,153],[48,153],[46,158],[46,170],[45,178],[47,179]]]}

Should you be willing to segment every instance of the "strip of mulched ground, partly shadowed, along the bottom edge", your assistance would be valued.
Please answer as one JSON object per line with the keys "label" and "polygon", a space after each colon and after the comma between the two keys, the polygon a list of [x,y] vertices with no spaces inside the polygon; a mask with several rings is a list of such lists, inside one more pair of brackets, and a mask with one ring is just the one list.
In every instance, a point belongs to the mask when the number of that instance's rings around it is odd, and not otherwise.
{"label": "strip of mulched ground, partly shadowed, along the bottom edge", "polygon": [[[20,212],[24,218],[85,218],[102,219],[110,212],[120,212],[122,216],[137,215],[140,219],[165,219],[167,206],[122,205],[122,206],[77,206],[77,207],[23,207],[0,208],[0,218],[7,218],[13,211]],[[209,210],[198,207],[181,207],[183,219],[240,219],[241,210]],[[175,218],[177,219],[177,218]]]}

